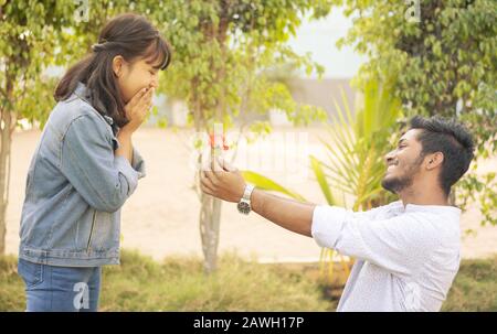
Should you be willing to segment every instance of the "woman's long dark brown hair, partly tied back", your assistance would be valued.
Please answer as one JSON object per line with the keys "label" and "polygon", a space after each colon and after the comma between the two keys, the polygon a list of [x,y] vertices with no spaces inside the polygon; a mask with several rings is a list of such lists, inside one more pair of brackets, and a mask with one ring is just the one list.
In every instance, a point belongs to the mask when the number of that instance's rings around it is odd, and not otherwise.
{"label": "woman's long dark brown hair, partly tied back", "polygon": [[120,55],[127,62],[146,58],[150,64],[160,64],[157,68],[166,69],[171,60],[171,50],[147,19],[134,13],[112,19],[102,30],[98,44],[92,49],[93,53],[65,73],[55,89],[55,100],[67,99],[81,82],[89,90],[93,107],[123,127],[128,119],[113,71],[114,57]]}

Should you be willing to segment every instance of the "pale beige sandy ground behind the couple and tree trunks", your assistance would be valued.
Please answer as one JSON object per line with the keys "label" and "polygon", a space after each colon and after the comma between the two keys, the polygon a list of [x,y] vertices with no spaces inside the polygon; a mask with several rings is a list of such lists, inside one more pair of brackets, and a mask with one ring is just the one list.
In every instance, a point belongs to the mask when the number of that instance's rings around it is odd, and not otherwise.
{"label": "pale beige sandy ground behind the couple and tree trunks", "polygon": [[[248,150],[241,147],[243,153],[239,154],[236,164],[274,177],[314,203],[325,203],[303,158],[307,153],[322,157],[318,141],[322,130],[282,128],[276,132],[279,139],[290,143],[285,150],[274,141],[262,141]],[[136,133],[135,146],[146,159],[147,176],[140,180],[123,208],[123,247],[139,249],[156,259],[168,255],[201,256],[200,205],[192,187],[194,157],[189,149],[191,136],[188,130],[156,128],[142,128]],[[13,138],[7,212],[7,251],[10,254],[17,254],[19,246],[25,175],[39,138],[40,131],[34,130],[17,132]],[[491,159],[480,168],[495,170],[496,165],[497,159]],[[466,229],[475,230],[476,236],[463,237],[463,257],[480,258],[497,252],[497,227],[482,227],[476,207],[463,214],[462,230]],[[255,214],[241,216],[234,204],[223,204],[220,250],[236,250],[242,256],[255,256],[260,261],[313,261],[319,258],[320,248],[311,238],[289,233]]]}

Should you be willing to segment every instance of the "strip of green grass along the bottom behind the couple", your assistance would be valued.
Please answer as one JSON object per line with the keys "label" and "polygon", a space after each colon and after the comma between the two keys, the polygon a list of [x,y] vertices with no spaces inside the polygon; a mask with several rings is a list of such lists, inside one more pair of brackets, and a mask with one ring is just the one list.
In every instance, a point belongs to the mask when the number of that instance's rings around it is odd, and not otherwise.
{"label": "strip of green grass along the bottom behind the couple", "polygon": [[[195,257],[154,261],[136,251],[105,267],[101,311],[332,311],[342,287],[330,289],[318,265],[260,265],[224,254],[215,274]],[[497,311],[497,257],[463,260],[444,311]],[[0,311],[22,311],[17,258],[0,257]]]}

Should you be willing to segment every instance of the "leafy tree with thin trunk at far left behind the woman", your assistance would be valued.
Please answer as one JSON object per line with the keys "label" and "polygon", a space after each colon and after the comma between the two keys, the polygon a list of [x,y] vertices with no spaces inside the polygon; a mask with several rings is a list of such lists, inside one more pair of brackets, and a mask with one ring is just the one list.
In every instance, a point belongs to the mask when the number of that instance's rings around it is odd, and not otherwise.
{"label": "leafy tree with thin trunk at far left behind the woman", "polygon": [[43,121],[53,80],[41,74],[57,36],[73,18],[73,1],[0,0],[0,254],[6,250],[12,133],[21,118]]}

